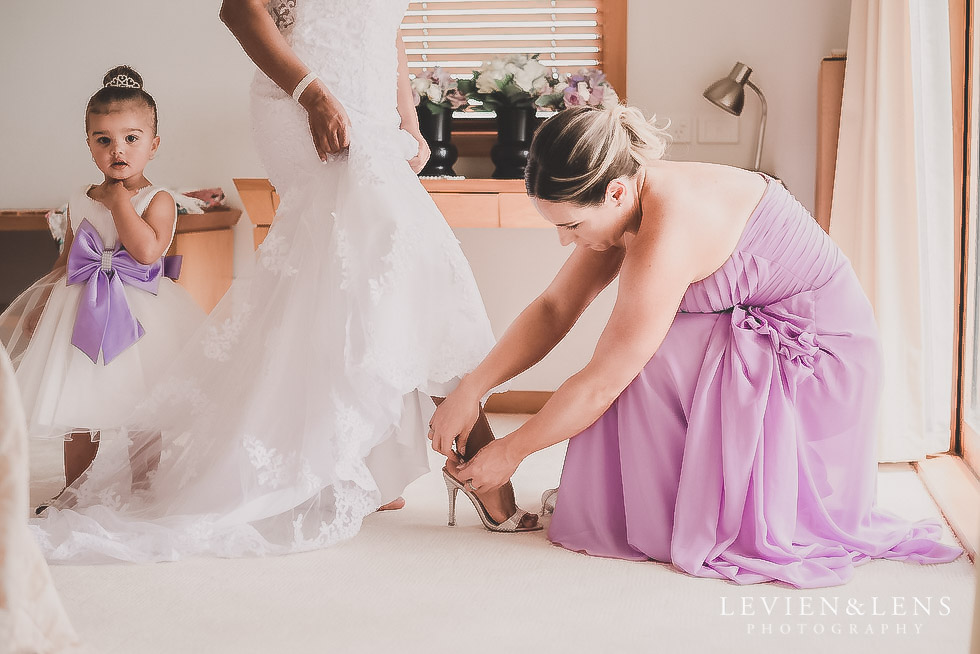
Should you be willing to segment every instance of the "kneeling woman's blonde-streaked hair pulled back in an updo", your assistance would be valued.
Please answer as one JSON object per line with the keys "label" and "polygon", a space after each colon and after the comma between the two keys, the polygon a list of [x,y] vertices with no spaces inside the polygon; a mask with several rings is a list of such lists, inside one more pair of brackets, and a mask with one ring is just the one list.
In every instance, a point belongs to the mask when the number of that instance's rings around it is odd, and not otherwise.
{"label": "kneeling woman's blonde-streaked hair pulled back in an updo", "polygon": [[571,107],[534,134],[524,183],[549,202],[602,204],[609,182],[664,156],[669,136],[634,107]]}

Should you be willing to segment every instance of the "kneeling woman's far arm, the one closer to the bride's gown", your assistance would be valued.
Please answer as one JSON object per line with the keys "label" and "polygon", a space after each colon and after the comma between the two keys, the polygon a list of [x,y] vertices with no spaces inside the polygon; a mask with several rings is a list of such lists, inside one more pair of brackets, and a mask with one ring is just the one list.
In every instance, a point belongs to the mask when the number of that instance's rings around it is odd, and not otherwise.
{"label": "kneeling woman's far arm, the one closer to the bride's gown", "polygon": [[577,247],[548,288],[514,320],[490,354],[466,375],[432,418],[432,448],[446,456],[467,435],[479,415],[479,401],[545,357],[564,338],[586,307],[616,277],[623,250],[595,252]]}

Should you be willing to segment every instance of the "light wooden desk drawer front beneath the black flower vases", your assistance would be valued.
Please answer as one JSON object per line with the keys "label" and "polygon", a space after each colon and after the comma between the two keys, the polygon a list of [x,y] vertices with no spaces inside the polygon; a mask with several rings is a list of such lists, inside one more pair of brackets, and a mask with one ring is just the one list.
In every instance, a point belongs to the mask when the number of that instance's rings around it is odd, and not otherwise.
{"label": "light wooden desk drawer front beneath the black flower vases", "polygon": [[[520,179],[422,179],[422,186],[451,227],[548,229]],[[234,180],[245,212],[254,225],[258,247],[279,207],[279,196],[267,179]]]}

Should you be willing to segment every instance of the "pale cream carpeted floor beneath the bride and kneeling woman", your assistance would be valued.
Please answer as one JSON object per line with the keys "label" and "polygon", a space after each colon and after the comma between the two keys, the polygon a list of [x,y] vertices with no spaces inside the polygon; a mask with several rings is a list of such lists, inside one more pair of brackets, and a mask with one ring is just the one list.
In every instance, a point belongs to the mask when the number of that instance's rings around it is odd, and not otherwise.
{"label": "pale cream carpeted floor beneath the bride and kneeling woman", "polygon": [[[522,419],[492,421],[506,433]],[[52,445],[33,452],[36,500],[58,483],[60,443]],[[557,484],[562,455],[555,447],[522,465],[515,484],[525,508],[536,510]],[[357,538],[324,551],[52,573],[76,629],[105,653],[969,649],[975,577],[965,556],[939,566],[875,561],[823,590],[739,587],[568,552],[544,532],[491,534],[465,503],[450,529],[435,473],[405,499],[405,509],[371,516]],[[904,465],[881,467],[879,503],[909,518],[938,515]]]}

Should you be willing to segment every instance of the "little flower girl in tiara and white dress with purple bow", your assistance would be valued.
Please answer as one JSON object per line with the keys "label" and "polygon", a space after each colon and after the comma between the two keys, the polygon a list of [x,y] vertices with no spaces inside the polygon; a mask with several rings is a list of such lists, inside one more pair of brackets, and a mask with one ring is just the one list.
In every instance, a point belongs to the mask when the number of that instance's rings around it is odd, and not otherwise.
{"label": "little flower girl in tiara and white dress with purple bow", "polygon": [[[0,315],[28,433],[65,438],[69,485],[203,319],[172,281],[180,259],[164,257],[176,205],[143,175],[160,137],[156,103],[136,71],[106,73],[85,131],[105,178],[72,195],[53,270]],[[147,472],[134,470],[134,485]]]}

